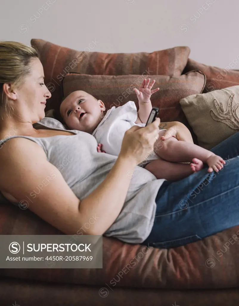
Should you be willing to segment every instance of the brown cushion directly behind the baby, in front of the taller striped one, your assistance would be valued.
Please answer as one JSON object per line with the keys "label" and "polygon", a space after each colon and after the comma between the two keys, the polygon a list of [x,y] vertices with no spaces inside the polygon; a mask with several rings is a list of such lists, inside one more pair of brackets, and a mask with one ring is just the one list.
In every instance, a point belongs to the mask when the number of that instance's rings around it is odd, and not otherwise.
{"label": "brown cushion directly behind the baby, in front of the taller striped one", "polygon": [[[159,91],[151,96],[153,106],[159,107],[161,122],[180,121],[193,131],[179,104],[179,100],[188,95],[201,93],[205,86],[205,75],[193,71],[182,76],[150,75],[155,79],[154,88]],[[63,80],[63,95],[67,96],[75,90],[83,90],[103,101],[106,109],[134,101],[139,110],[138,99],[133,88],[143,80],[142,75],[104,76],[69,73]],[[59,108],[59,107],[58,107]],[[194,143],[197,142],[193,135]]]}

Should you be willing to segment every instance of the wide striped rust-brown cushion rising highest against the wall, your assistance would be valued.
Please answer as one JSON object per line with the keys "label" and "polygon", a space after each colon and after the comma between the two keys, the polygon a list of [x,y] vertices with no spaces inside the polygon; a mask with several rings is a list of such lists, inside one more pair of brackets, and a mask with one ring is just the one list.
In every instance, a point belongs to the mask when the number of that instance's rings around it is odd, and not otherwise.
{"label": "wide striped rust-brown cushion rising highest against the wall", "polygon": [[161,74],[181,75],[190,53],[189,47],[174,47],[152,53],[94,52],[92,41],[84,51],[61,47],[42,39],[31,39],[40,53],[45,84],[52,93],[46,109],[54,109],[61,99],[61,81],[68,72],[103,75]]}

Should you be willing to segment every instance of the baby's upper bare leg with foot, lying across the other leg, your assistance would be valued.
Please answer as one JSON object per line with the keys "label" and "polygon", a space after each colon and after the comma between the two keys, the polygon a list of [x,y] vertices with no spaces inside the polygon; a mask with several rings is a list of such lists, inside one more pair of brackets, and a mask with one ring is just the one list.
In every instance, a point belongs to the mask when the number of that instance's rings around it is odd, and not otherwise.
{"label": "baby's upper bare leg with foot, lying across the other leg", "polygon": [[[213,170],[219,171],[223,168],[225,161],[218,155],[208,151],[196,144],[177,140],[175,137],[170,137],[168,140],[160,140],[165,131],[159,132],[159,138],[154,143],[154,152],[169,162],[198,162],[198,159],[203,163],[207,163],[208,172]],[[196,158],[196,159],[195,159]]]}

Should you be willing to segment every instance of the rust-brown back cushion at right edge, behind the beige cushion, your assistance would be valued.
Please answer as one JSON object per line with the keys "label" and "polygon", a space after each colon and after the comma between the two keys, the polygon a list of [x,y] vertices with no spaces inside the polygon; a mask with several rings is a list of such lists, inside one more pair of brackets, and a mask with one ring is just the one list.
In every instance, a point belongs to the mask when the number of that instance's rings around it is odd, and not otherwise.
{"label": "rust-brown back cushion at right edge, behind the beige cushion", "polygon": [[205,93],[217,89],[239,85],[239,71],[231,69],[235,66],[235,63],[231,62],[228,66],[226,66],[225,69],[222,69],[200,64],[189,58],[183,73],[195,69],[205,73],[207,78],[207,83],[203,91]]}

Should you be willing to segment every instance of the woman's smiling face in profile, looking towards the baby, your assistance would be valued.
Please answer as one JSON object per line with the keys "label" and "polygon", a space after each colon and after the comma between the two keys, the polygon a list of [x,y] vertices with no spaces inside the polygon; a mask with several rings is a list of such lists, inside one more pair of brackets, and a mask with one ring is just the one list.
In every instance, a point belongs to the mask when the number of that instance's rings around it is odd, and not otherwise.
{"label": "woman's smiling face in profile, looking towards the baby", "polygon": [[45,117],[45,103],[51,93],[44,84],[44,71],[40,60],[33,58],[30,66],[31,72],[25,76],[24,82],[15,92],[20,114],[35,123]]}

